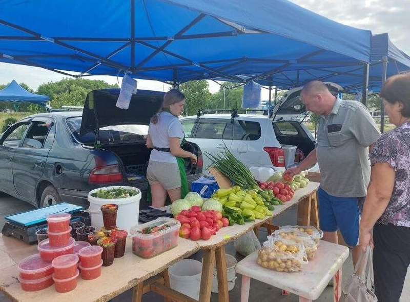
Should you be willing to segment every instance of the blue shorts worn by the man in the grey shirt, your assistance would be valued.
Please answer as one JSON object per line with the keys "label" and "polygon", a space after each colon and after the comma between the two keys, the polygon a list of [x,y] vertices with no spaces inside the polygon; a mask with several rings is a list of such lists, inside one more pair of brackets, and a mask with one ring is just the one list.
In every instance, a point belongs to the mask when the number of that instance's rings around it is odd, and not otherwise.
{"label": "blue shorts worn by the man in the grey shirt", "polygon": [[362,197],[336,197],[319,188],[319,222],[324,232],[340,229],[343,239],[350,247],[359,244],[359,206]]}

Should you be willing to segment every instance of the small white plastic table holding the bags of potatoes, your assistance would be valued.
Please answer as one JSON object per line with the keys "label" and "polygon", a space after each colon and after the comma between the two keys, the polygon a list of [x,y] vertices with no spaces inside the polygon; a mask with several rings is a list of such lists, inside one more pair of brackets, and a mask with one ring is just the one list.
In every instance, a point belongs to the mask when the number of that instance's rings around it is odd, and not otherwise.
{"label": "small white plastic table holding the bags of potatoes", "polygon": [[348,255],[347,247],[321,240],[314,260],[303,266],[301,272],[284,273],[259,266],[256,251],[236,265],[236,272],[242,275],[240,301],[248,302],[251,278],[296,294],[300,302],[308,302],[316,300],[333,277],[333,300],[337,302],[341,294],[342,265]]}

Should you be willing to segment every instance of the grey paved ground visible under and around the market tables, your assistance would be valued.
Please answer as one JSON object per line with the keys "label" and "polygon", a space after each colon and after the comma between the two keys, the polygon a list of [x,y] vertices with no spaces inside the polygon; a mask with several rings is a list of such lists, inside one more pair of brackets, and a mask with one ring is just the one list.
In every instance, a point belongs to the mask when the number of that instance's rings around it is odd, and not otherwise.
{"label": "grey paved ground visible under and around the market tables", "polygon": [[[4,217],[7,215],[15,214],[22,211],[31,210],[33,207],[25,202],[22,202],[16,198],[13,198],[9,195],[0,193],[0,226],[3,227],[5,220]],[[275,222],[276,225],[285,225],[285,224],[294,224],[296,223],[296,208],[290,209],[285,212],[282,216],[278,217]],[[259,240],[262,242],[266,238],[267,234],[261,230],[259,233]],[[235,255],[239,261],[243,257],[235,252],[233,244],[229,244],[226,247],[227,253]],[[200,260],[202,258],[202,253],[198,252],[193,255],[191,258]],[[343,265],[343,285],[346,282],[348,276],[352,274],[353,265],[352,257],[350,256]],[[240,300],[240,287],[241,287],[241,278],[240,275],[237,276],[235,283],[235,288],[230,291],[230,301],[239,301]],[[333,288],[327,287],[322,295],[317,299],[318,302],[331,302],[333,301]],[[127,291],[116,298],[113,302],[128,302],[131,300],[132,291]],[[298,297],[295,295],[282,296],[281,291],[277,288],[269,286],[267,284],[261,283],[256,280],[251,281],[251,292],[250,292],[250,301],[259,301],[259,302],[297,302],[299,301]],[[148,293],[142,298],[143,302],[162,302],[163,298],[154,293]],[[217,294],[213,293],[211,297],[212,302],[218,301]],[[400,299],[401,302],[410,302],[410,273],[407,274],[407,279],[405,281],[403,294]],[[10,302],[10,300],[0,293],[0,302]]]}

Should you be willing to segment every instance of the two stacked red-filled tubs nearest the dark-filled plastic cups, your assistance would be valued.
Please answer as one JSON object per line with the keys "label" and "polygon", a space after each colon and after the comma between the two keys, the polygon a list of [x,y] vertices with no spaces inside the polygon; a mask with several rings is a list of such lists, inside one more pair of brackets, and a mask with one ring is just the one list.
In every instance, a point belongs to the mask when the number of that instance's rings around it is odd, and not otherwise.
{"label": "two stacked red-filled tubs nearest the dark-filled plastic cups", "polygon": [[82,248],[78,252],[81,278],[91,280],[101,275],[101,266],[103,265],[101,253],[103,253],[103,250],[100,246],[89,246]]}

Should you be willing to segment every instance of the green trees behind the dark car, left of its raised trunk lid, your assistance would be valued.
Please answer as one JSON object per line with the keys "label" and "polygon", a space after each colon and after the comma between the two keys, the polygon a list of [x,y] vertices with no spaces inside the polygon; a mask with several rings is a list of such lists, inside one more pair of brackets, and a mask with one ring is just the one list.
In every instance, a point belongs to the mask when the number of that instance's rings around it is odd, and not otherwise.
{"label": "green trees behind the dark car, left of its raised trunk lid", "polygon": [[118,88],[118,85],[110,85],[104,80],[64,78],[58,82],[40,85],[36,93],[48,95],[52,108],[61,108],[64,105],[84,106],[87,93],[91,90],[104,88]]}

